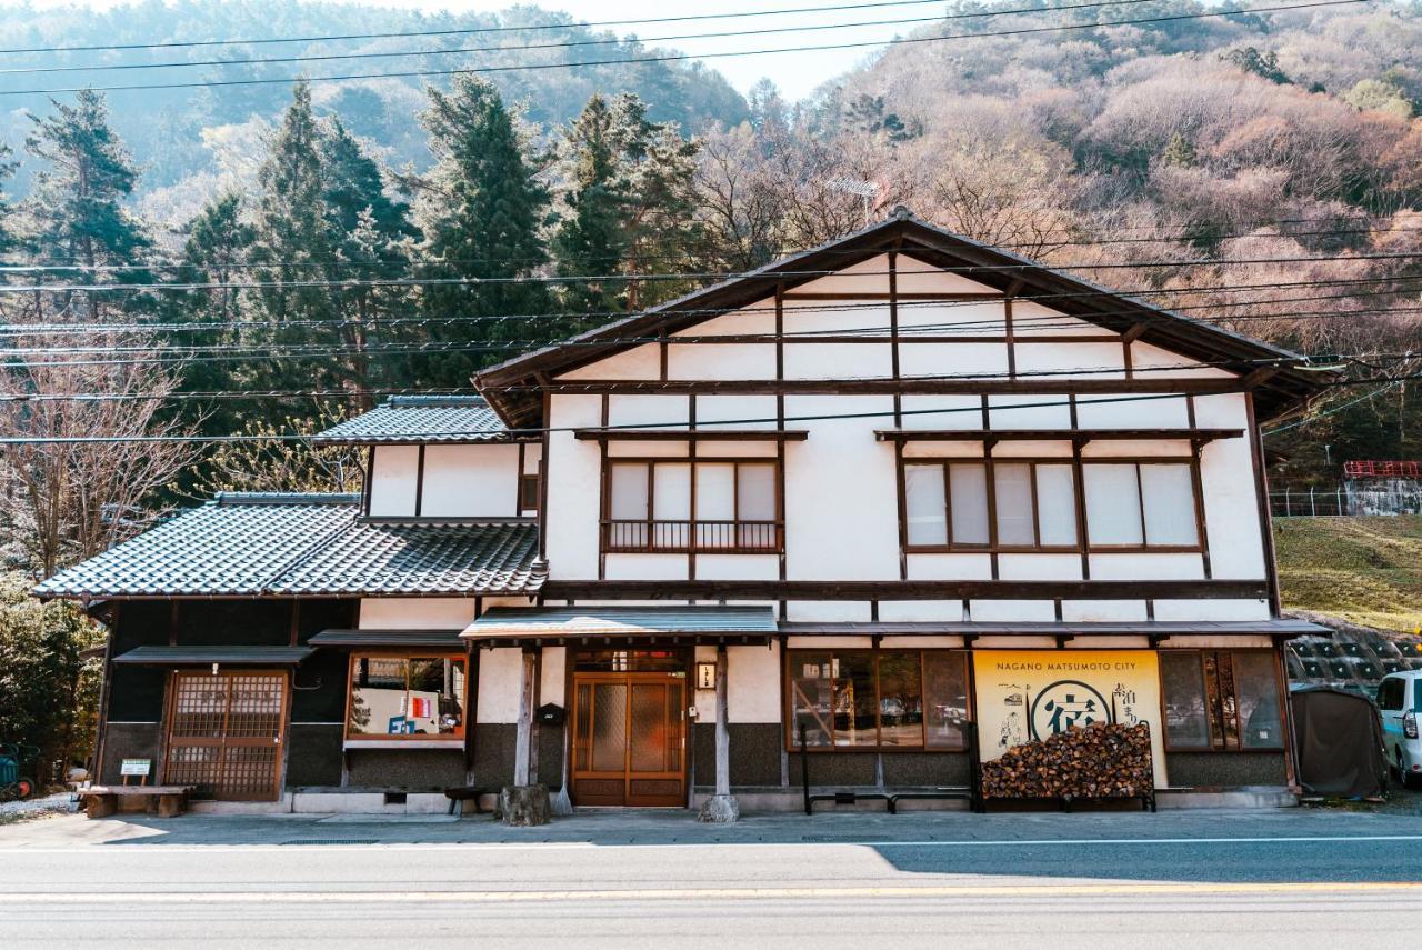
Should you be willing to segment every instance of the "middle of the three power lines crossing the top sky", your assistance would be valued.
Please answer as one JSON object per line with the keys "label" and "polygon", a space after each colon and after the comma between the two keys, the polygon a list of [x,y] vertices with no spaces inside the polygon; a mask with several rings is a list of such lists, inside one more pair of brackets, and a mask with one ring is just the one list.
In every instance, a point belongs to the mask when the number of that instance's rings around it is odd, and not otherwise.
{"label": "middle of the three power lines crossing the top sky", "polygon": [[[1135,6],[1140,3],[1155,3],[1155,1],[1156,0],[1095,0],[1094,3],[1076,3],[1061,7],[1051,7],[1051,11]],[[209,65],[216,65],[216,67],[269,65],[273,63],[380,60],[380,58],[394,58],[407,55],[464,55],[469,53],[522,53],[528,50],[567,50],[567,48],[589,47],[589,46],[624,46],[624,44],[647,46],[651,43],[667,43],[673,40],[712,40],[712,38],[742,37],[742,36],[745,37],[772,36],[779,33],[822,33],[825,30],[852,30],[862,27],[906,26],[913,23],[941,23],[946,20],[980,20],[985,17],[1005,17],[1005,16],[1018,16],[1031,13],[1044,13],[1044,9],[1024,7],[1020,10],[988,10],[980,13],[936,14],[931,17],[907,17],[899,20],[860,20],[857,23],[825,23],[825,24],[793,26],[793,27],[766,27],[761,30],[729,30],[722,33],[681,33],[681,34],[658,36],[658,37],[634,37],[630,43],[629,40],[624,40],[621,37],[607,37],[602,40],[565,40],[559,43],[526,43],[519,46],[447,47],[447,48],[425,48],[425,50],[395,50],[395,51],[381,51],[381,53],[375,51],[320,53],[320,54],[300,54],[300,55],[264,57],[264,58],[247,58],[247,60],[189,60],[189,61],[171,61],[171,63],[114,63],[114,64],[98,64],[98,65],[11,67],[11,68],[0,68],[0,75],[26,75],[26,74],[41,74],[41,73],[97,73],[97,71],[111,71],[111,70],[175,70],[175,68],[198,68]]]}

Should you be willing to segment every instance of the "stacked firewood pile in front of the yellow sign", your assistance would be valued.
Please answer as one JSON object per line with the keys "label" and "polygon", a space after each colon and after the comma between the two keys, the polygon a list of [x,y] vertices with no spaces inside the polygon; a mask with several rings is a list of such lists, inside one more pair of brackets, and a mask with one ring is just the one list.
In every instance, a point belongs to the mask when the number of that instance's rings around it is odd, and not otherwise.
{"label": "stacked firewood pile in front of the yellow sign", "polygon": [[1153,791],[1145,722],[1071,728],[983,764],[983,798],[1133,798]]}

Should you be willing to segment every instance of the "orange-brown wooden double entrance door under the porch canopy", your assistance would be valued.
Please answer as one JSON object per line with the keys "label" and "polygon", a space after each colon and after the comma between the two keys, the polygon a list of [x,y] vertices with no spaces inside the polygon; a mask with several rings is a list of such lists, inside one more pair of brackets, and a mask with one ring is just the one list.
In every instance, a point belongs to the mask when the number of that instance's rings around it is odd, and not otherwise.
{"label": "orange-brown wooden double entrance door under the porch canopy", "polygon": [[684,676],[573,674],[573,802],[687,804]]}

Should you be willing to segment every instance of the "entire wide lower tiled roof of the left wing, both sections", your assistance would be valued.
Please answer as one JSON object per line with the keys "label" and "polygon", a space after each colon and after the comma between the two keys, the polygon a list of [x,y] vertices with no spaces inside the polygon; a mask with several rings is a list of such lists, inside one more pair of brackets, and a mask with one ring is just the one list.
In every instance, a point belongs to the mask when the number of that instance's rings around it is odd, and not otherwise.
{"label": "entire wide lower tiled roof of the left wing, both sections", "polygon": [[358,495],[219,495],[61,570],[40,597],[528,593],[538,526],[360,522]]}

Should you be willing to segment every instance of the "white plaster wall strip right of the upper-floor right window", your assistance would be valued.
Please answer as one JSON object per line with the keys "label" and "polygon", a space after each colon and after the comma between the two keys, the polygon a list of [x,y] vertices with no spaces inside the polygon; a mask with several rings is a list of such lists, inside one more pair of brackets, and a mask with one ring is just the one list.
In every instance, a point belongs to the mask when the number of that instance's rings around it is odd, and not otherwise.
{"label": "white plaster wall strip right of the upper-floor right window", "polygon": [[1264,539],[1254,485],[1249,408],[1240,394],[1194,400],[1194,418],[1204,428],[1240,428],[1244,438],[1217,439],[1200,455],[1204,525],[1210,536],[1210,573],[1214,577],[1266,576]]}

